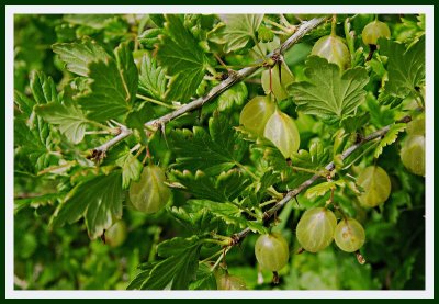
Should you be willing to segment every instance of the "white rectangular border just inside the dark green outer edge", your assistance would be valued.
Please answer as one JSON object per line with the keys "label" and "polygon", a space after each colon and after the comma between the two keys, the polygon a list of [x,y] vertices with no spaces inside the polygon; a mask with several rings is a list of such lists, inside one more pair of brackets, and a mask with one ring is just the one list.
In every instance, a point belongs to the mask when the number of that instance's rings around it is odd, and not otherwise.
{"label": "white rectangular border just inside the dark green outer edge", "polygon": [[[426,290],[424,291],[16,291],[13,290],[13,14],[15,13],[425,13],[426,14]],[[5,297],[434,297],[434,7],[113,7],[7,5],[5,7]]]}

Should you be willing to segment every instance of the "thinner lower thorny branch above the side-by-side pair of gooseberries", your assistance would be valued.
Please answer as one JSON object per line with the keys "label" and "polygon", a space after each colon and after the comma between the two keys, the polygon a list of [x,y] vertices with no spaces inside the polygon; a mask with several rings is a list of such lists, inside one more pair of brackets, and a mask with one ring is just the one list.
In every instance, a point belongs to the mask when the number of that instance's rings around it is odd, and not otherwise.
{"label": "thinner lower thorny branch above the side-by-side pair of gooseberries", "polygon": [[[412,121],[412,117],[410,116],[405,116],[405,117],[396,121],[395,123],[408,123],[409,121]],[[369,143],[369,142],[373,140],[373,139],[376,139],[376,138],[380,138],[380,137],[384,136],[389,132],[389,130],[392,127],[392,125],[393,124],[390,124],[387,126],[384,126],[384,127],[380,128],[379,131],[375,131],[375,132],[371,133],[367,137],[363,137],[359,143],[357,143],[357,144],[350,146],[349,148],[347,148],[341,154],[341,160],[345,160],[346,158],[348,158],[352,153],[354,153],[358,148],[360,148],[365,143]],[[331,161],[328,165],[326,165],[325,169],[328,172],[334,171],[335,170],[334,161]],[[288,202],[290,202],[292,199],[297,196],[299,193],[301,193],[302,191],[307,189],[309,185],[312,185],[318,178],[322,178],[322,174],[314,174],[308,180],[306,180],[302,184],[300,184],[297,188],[286,192],[285,196],[283,196],[282,200],[280,200],[278,203],[275,203],[274,206],[272,206],[270,210],[268,210],[267,212],[263,213],[262,221],[267,222],[268,219],[270,219]],[[233,243],[230,244],[230,246],[235,246],[235,245],[239,244],[250,232],[251,232],[250,228],[245,228],[241,232],[235,234],[232,237]]]}

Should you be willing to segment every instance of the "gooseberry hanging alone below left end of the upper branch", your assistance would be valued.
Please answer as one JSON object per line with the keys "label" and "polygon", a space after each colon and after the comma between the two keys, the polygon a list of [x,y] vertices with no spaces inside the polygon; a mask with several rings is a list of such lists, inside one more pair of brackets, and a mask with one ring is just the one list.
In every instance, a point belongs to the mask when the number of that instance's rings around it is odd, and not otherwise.
{"label": "gooseberry hanging alone below left end of the upper branch", "polygon": [[139,181],[130,185],[132,205],[145,213],[155,213],[162,209],[171,195],[169,188],[164,183],[165,180],[165,171],[160,167],[145,167]]}

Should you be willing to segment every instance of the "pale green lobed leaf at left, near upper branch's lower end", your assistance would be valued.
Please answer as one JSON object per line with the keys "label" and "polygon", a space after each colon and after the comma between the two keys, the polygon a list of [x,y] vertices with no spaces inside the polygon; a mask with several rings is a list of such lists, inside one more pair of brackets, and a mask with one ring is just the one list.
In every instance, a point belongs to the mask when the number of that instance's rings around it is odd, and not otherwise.
{"label": "pale green lobed leaf at left, near upper branch's lower end", "polygon": [[71,101],[50,102],[35,106],[35,113],[49,124],[58,125],[59,131],[74,144],[82,142],[89,120]]}

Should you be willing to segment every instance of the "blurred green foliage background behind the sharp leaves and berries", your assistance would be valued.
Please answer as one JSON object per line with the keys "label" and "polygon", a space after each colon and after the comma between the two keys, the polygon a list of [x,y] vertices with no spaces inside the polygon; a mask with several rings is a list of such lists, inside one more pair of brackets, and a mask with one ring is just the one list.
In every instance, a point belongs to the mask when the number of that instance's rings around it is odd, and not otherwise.
{"label": "blurred green foliage background behind the sharp leaves and berries", "polygon": [[[15,90],[30,94],[29,80],[33,70],[43,70],[56,83],[63,80],[63,64],[53,53],[52,44],[91,36],[113,49],[121,41],[140,32],[133,27],[132,18],[113,15],[104,18],[104,22],[97,22],[97,19],[72,21],[68,15],[56,14],[16,15]],[[372,15],[359,18],[353,26],[361,31],[372,19]],[[406,16],[406,23],[397,15],[387,15],[383,20],[391,26],[396,40],[404,40],[417,31],[413,25],[416,23],[415,16]],[[315,38],[305,41],[285,55],[286,64],[297,77],[303,72],[304,60],[314,42]],[[247,59],[246,63],[246,58],[237,55],[229,60],[248,64],[254,59]],[[260,93],[258,86],[250,82],[246,86],[249,97]],[[237,115],[241,106],[235,108],[233,114]],[[393,113],[389,108],[374,104],[373,101],[368,106],[378,125],[393,122]],[[209,109],[206,111],[209,116]],[[295,115],[290,108],[284,111]],[[206,126],[206,123],[207,119],[200,121],[202,126]],[[325,132],[318,122],[313,121],[308,137],[303,136],[301,146],[307,147],[312,137],[324,136]],[[162,158],[172,158],[166,155],[166,144],[162,140],[157,140],[156,145]],[[378,161],[378,165],[387,169],[392,179],[393,191],[385,207],[357,211],[357,216],[367,223],[367,244],[361,250],[368,260],[367,264],[358,264],[353,255],[342,252],[333,245],[316,255],[292,255],[289,267],[281,272],[279,286],[270,284],[271,274],[266,272],[262,272],[264,283],[260,284],[254,256],[256,236],[250,235],[227,255],[228,271],[244,278],[249,289],[424,289],[424,178],[408,173],[399,161],[395,161],[398,158],[396,143],[385,147]],[[50,192],[56,181],[42,181],[35,174],[30,174],[26,169],[29,161],[15,160],[14,192],[15,198],[23,203],[18,205],[14,216],[16,289],[125,289],[139,263],[156,259],[155,247],[159,241],[184,236],[181,226],[166,211],[144,215],[130,207],[125,207],[123,214],[128,226],[127,238],[117,248],[105,246],[100,239],[90,240],[82,219],[49,232],[47,224],[55,205],[26,199],[35,193]],[[347,206],[354,200],[349,195],[337,199]],[[182,205],[184,201],[184,194],[175,192],[175,205]],[[323,200],[307,200],[301,195],[299,201],[300,206],[290,203],[279,214],[283,221],[275,228],[286,237],[292,252],[299,248],[292,227],[295,227],[304,207],[322,203]]]}

